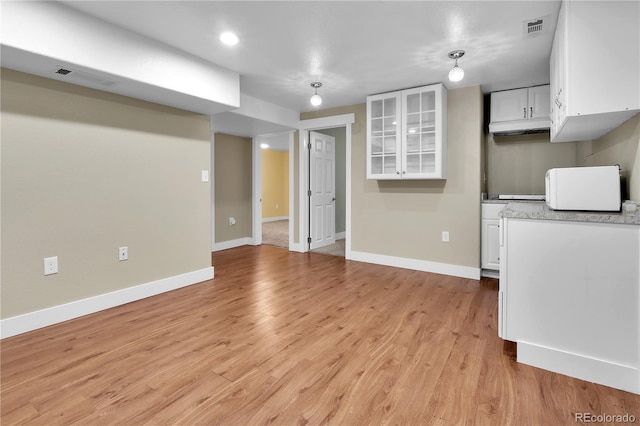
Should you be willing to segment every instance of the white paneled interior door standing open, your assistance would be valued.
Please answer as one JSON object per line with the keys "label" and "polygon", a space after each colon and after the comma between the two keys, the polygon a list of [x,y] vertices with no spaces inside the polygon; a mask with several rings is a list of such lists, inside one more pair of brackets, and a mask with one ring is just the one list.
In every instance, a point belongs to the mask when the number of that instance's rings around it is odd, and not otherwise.
{"label": "white paneled interior door standing open", "polygon": [[309,153],[311,250],[336,242],[335,138],[310,132]]}

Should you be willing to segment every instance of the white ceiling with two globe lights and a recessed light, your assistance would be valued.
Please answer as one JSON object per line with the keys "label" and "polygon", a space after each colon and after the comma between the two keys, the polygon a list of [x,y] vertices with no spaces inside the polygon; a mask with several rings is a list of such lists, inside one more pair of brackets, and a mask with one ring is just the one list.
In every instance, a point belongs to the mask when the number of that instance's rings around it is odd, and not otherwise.
{"label": "white ceiling with two globe lights and a recessed light", "polygon": [[[68,6],[240,73],[243,94],[310,111],[369,94],[444,82],[485,93],[549,82],[560,0],[553,1],[66,1]],[[523,22],[545,18],[525,37]],[[220,43],[223,31],[240,37]],[[465,78],[447,79],[463,49]]]}

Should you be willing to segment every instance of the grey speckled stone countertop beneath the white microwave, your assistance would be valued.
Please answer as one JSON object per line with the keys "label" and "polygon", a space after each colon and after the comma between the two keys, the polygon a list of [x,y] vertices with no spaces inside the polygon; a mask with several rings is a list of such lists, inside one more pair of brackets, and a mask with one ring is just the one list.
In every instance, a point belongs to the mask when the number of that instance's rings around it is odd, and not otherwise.
{"label": "grey speckled stone countertop beneath the white microwave", "polygon": [[[492,200],[483,200],[483,202],[486,201]],[[503,202],[504,200],[495,200],[495,202],[497,201]],[[500,217],[640,225],[640,203],[625,201],[622,210],[622,212],[553,210],[544,201],[510,201],[500,212]]]}

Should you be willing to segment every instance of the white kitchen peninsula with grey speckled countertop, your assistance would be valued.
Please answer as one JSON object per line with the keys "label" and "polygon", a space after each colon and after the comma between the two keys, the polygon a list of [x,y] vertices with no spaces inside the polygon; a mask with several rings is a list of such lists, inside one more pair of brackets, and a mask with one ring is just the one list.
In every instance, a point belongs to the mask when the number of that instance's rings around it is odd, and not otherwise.
{"label": "white kitchen peninsula with grey speckled countertop", "polygon": [[498,333],[518,361],[640,394],[640,205],[500,216]]}

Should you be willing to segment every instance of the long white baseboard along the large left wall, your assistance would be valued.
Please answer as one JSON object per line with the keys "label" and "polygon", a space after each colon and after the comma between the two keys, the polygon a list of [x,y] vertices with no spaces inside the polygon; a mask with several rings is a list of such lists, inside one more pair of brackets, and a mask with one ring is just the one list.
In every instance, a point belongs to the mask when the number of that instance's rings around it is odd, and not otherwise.
{"label": "long white baseboard along the large left wall", "polygon": [[125,303],[145,299],[160,293],[166,293],[181,287],[186,287],[202,281],[210,280],[214,276],[213,267],[175,275],[161,280],[152,281],[133,287],[123,288],[111,293],[100,294],[63,305],[23,315],[6,318],[0,321],[0,338],[15,336],[28,331],[37,330],[60,322],[79,318],[105,309],[124,305]]}

